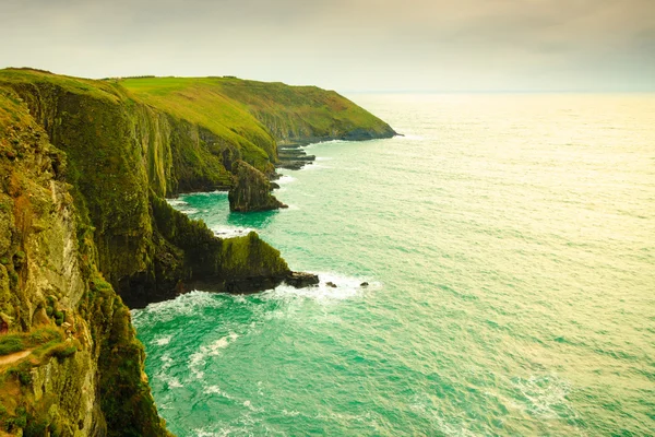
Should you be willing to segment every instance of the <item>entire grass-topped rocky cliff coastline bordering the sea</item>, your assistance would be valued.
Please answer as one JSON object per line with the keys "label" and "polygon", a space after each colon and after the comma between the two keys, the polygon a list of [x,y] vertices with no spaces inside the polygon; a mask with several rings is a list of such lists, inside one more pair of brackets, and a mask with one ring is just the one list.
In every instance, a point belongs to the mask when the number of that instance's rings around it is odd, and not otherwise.
{"label": "entire grass-topped rocky cliff coastline bordering the sea", "polygon": [[335,93],[248,97],[262,86],[0,71],[0,435],[167,435],[128,306],[296,277],[255,233],[216,238],[164,198],[231,189],[235,210],[279,206],[278,142],[392,133],[318,103]]}

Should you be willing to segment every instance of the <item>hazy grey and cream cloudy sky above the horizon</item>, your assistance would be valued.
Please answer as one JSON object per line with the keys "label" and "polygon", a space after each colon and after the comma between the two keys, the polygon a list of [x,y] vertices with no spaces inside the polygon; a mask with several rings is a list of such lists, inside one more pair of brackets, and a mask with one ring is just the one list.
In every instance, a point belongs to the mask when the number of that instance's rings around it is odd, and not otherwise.
{"label": "hazy grey and cream cloudy sky above the horizon", "polygon": [[655,0],[0,0],[0,68],[341,92],[655,91]]}

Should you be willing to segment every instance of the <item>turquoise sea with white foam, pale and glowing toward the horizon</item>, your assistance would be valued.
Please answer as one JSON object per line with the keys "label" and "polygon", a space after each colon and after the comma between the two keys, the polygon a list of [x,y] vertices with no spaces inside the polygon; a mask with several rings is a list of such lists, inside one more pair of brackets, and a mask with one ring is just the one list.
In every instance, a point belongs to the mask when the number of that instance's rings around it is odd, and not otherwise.
{"label": "turquoise sea with white foam, pale and glowing toward the horizon", "polygon": [[309,146],[288,210],[174,202],[323,283],[133,311],[170,429],[653,435],[655,96],[353,98],[406,137]]}

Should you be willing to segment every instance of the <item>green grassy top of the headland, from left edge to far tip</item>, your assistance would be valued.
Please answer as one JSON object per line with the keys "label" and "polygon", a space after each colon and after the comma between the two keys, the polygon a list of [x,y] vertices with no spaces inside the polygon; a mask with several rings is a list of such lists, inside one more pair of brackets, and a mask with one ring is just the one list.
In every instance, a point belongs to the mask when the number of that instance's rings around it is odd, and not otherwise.
{"label": "green grassy top of the headland, from left edge to far tip", "polygon": [[[114,104],[142,104],[200,126],[265,173],[277,143],[388,138],[389,125],[334,91],[225,78],[90,80],[33,69],[0,70],[0,88],[59,88]],[[229,170],[229,169],[228,169]]]}

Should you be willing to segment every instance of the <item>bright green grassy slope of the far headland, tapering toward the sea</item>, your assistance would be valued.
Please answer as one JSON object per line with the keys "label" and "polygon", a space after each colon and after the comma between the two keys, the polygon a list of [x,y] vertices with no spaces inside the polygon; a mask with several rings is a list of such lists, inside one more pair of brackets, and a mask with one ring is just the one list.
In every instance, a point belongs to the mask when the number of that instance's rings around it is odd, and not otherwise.
{"label": "bright green grassy slope of the far headland, tapering toward the sea", "polygon": [[134,78],[120,84],[163,110],[215,132],[234,130],[249,139],[260,130],[279,142],[341,138],[355,129],[382,137],[393,133],[389,125],[353,102],[315,86],[236,78]]}

